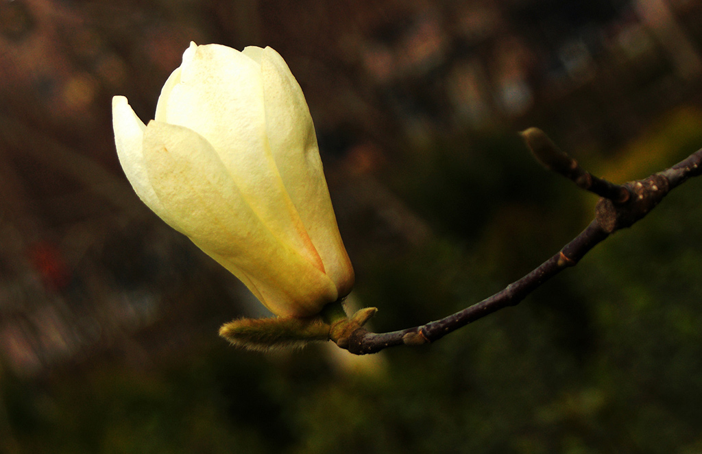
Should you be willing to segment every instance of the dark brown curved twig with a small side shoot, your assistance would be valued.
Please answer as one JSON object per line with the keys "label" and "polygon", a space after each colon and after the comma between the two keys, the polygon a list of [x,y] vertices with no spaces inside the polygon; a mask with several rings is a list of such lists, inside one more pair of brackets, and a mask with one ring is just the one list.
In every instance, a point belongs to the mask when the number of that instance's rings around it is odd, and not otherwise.
{"label": "dark brown curved twig with a small side shoot", "polygon": [[[538,132],[536,132],[538,131]],[[450,316],[425,325],[407,328],[406,330],[375,333],[365,328],[352,332],[343,348],[352,354],[364,355],[376,353],[396,345],[419,345],[441,339],[449,332],[458,330],[468,323],[494,313],[507,306],[519,304],[537,287],[557,275],[565,268],[575,266],[590,249],[607,238],[611,233],[633,225],[646,216],[651,209],[658,205],[670,190],[680,186],[692,176],[702,174],[702,150],[696,151],[687,159],[653,174],[646,179],[632,181],[624,185],[616,185],[596,179],[581,169],[575,160],[560,151],[543,132],[528,129],[522,133],[532,152],[539,162],[548,169],[567,176],[575,181],[578,187],[599,194],[602,198],[597,203],[595,219],[585,230],[563,247],[557,254],[543,262],[540,266],[511,283],[504,290],[480,301],[477,304],[456,312]],[[544,145],[545,144],[545,145]],[[547,149],[545,152],[544,150]],[[544,158],[545,157],[545,158]],[[589,177],[584,177],[587,175]],[[583,181],[587,185],[583,185]],[[597,183],[595,183],[597,182]],[[585,187],[587,186],[587,187]],[[623,196],[626,194],[626,196]]]}

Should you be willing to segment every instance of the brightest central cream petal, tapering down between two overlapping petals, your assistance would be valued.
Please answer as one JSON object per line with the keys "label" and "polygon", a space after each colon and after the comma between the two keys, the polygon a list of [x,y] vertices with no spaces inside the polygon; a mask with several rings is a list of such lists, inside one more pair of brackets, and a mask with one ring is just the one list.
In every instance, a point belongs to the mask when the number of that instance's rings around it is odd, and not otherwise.
{"label": "brightest central cream petal, tapering down between two overlapping petals", "polygon": [[196,131],[217,151],[248,205],[311,264],[324,264],[296,212],[270,152],[260,65],[217,44],[183,61],[166,106],[168,123]]}

